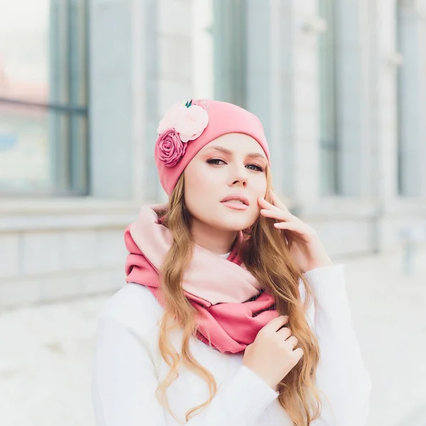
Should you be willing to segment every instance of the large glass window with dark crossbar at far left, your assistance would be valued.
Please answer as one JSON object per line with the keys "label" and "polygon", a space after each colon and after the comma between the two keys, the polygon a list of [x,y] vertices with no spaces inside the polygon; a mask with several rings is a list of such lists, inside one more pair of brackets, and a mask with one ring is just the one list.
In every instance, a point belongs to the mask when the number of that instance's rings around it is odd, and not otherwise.
{"label": "large glass window with dark crossbar at far left", "polygon": [[87,0],[1,9],[0,194],[87,194]]}

